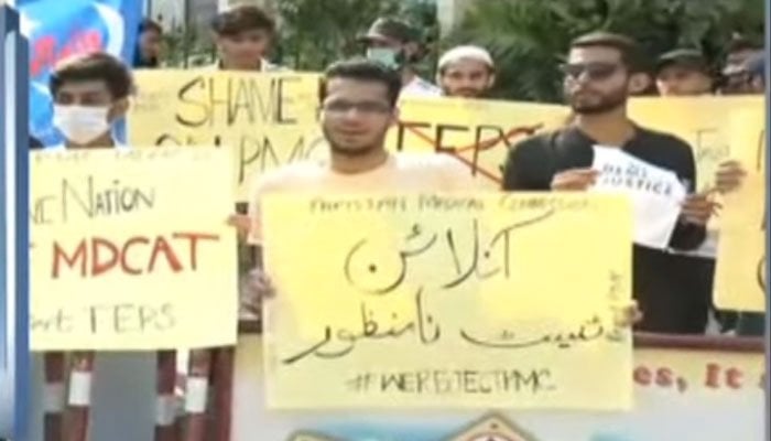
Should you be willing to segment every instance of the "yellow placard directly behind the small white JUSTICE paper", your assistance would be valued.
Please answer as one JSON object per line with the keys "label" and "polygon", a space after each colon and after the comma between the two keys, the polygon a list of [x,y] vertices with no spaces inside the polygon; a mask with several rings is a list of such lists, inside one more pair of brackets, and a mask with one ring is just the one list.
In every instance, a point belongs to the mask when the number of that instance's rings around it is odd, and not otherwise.
{"label": "yellow placard directly behind the small white JUSTICE paper", "polygon": [[629,101],[629,115],[634,122],[674,135],[691,146],[696,161],[697,191],[715,184],[717,166],[730,157],[729,115],[741,109],[762,111],[763,108],[760,95],[651,97]]}

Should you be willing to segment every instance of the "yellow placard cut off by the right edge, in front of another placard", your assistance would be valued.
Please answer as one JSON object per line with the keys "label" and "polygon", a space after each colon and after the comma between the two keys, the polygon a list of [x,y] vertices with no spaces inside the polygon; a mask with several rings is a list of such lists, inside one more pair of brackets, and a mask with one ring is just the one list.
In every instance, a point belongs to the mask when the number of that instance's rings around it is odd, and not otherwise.
{"label": "yellow placard cut off by the right edge, in front of another placard", "polygon": [[731,151],[747,176],[724,197],[715,269],[715,303],[739,311],[765,311],[765,118],[764,111],[731,116]]}

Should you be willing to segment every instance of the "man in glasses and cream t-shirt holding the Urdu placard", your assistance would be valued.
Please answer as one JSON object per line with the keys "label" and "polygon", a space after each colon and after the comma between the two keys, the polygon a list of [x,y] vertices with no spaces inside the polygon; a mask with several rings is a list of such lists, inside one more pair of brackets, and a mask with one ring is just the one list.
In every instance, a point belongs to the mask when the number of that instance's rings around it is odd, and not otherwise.
{"label": "man in glasses and cream t-shirt holding the Urdu placard", "polygon": [[[258,266],[262,244],[260,200],[268,193],[469,191],[478,185],[471,170],[449,155],[394,154],[386,150],[387,132],[399,117],[401,89],[399,73],[374,61],[346,61],[327,69],[321,123],[329,159],[290,164],[254,183],[249,198],[248,239],[258,247]],[[243,299],[242,304],[252,313],[259,310],[254,299]]]}

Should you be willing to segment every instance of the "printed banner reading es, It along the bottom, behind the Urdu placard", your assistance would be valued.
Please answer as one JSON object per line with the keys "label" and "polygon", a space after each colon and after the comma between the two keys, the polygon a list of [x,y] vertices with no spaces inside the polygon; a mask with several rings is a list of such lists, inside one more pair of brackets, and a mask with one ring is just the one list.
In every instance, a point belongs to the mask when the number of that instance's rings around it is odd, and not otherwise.
{"label": "printed banner reading es, It along the bottom, behind the Urdu placard", "polygon": [[[479,408],[428,415],[405,408],[357,409],[352,418],[351,412],[267,409],[260,343],[256,335],[238,342],[232,441],[756,441],[763,439],[768,415],[760,341],[752,352],[719,349],[714,341],[712,349],[672,347],[672,340],[665,342],[669,348],[636,347],[631,412]],[[696,437],[694,420],[699,421]]]}

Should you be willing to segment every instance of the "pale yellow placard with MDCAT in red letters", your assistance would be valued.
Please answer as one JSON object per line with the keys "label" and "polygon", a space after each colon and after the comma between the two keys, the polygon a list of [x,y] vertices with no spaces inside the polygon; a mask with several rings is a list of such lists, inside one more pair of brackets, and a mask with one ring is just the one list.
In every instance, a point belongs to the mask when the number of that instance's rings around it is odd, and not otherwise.
{"label": "pale yellow placard with MDCAT in red letters", "polygon": [[232,344],[228,157],[215,148],[35,153],[32,348]]}

